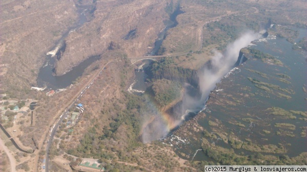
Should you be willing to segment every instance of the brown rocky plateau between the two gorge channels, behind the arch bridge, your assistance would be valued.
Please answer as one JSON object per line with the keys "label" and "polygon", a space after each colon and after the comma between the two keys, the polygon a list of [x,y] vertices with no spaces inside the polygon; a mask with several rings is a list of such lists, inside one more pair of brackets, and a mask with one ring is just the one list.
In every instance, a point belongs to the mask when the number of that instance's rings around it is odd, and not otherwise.
{"label": "brown rocky plateau between the two gorge channels, behind the arch bridge", "polygon": [[[165,5],[162,0],[97,2],[94,18],[66,38],[65,52],[56,64],[57,75],[108,47],[121,48],[128,57],[144,55],[164,28],[163,20],[168,18]],[[125,39],[133,30],[135,35]]]}

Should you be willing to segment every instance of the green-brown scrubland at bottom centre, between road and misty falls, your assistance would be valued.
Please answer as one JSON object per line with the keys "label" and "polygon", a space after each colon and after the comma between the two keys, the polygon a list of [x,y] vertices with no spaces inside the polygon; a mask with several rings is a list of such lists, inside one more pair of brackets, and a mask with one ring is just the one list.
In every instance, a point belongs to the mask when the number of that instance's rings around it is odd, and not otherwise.
{"label": "green-brown scrubland at bottom centre, between road and misty falls", "polygon": [[[101,129],[95,119],[84,114],[85,120],[91,120],[93,123],[92,127],[87,129],[76,149],[68,145],[63,146],[63,144],[60,144],[60,148],[66,147],[68,154],[80,158],[99,159],[99,162],[104,164],[106,171],[142,171],[145,170],[145,167],[171,171],[174,167],[178,167],[179,164],[173,160],[173,156],[168,157],[168,152],[163,151],[163,144],[157,142],[148,147],[139,139],[140,121],[146,116],[146,112],[150,115],[157,113],[155,109],[148,106],[147,96],[137,96],[126,92],[124,95],[126,109],[119,110],[120,108],[117,107],[118,111],[116,116],[112,117],[112,122]],[[101,110],[101,115],[108,113],[107,108]],[[140,153],[136,153],[138,151]],[[153,156],[155,158],[152,159]],[[165,162],[164,159],[169,159],[169,162]],[[124,165],[118,161],[137,163],[138,166]],[[155,165],[151,163],[152,161],[155,162]]]}

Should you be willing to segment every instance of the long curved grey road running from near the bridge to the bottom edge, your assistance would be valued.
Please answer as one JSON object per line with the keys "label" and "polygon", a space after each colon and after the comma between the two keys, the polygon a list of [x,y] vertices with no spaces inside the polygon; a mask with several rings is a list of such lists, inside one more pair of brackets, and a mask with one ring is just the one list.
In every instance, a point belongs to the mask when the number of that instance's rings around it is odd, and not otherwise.
{"label": "long curved grey road running from near the bridge to the bottom edge", "polygon": [[[112,60],[113,61],[113,60]],[[105,66],[107,66],[109,63],[111,63],[112,61],[107,62],[102,69],[97,73],[97,75],[87,83],[87,85],[84,87],[84,89],[82,89],[81,91],[79,91],[79,95],[77,96],[77,98],[72,102],[72,104],[67,107],[67,109],[62,113],[62,115],[60,116],[60,118],[58,120],[56,120],[56,123],[52,126],[53,129],[51,131],[51,133],[49,132],[49,139],[47,141],[47,147],[46,147],[46,163],[45,163],[45,171],[49,172],[49,150],[50,147],[52,145],[52,141],[53,141],[53,137],[56,133],[56,131],[58,130],[62,120],[67,117],[67,115],[69,114],[69,110],[71,107],[74,107],[75,104],[77,103],[77,101],[80,99],[81,95],[86,91],[87,88],[89,88],[93,82],[97,79],[97,77],[102,73],[102,71],[104,70]]]}

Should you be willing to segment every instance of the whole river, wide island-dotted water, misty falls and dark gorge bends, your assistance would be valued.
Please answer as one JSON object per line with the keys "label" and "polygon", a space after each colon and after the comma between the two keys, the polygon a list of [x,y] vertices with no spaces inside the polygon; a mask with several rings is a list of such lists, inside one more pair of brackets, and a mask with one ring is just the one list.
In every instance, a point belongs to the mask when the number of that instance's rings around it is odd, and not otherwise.
{"label": "whole river, wide island-dotted water, misty falls and dark gorge bends", "polygon": [[[170,20],[164,22],[165,28],[148,55],[163,53],[161,45],[167,30],[177,26],[176,16],[181,13],[177,8]],[[101,58],[99,55],[91,56],[64,75],[54,76],[55,57],[60,59],[65,52],[65,37],[86,21],[84,14],[80,14],[78,26],[64,34],[48,53],[48,60],[38,75],[39,86],[47,85],[52,89],[68,87],[82,76],[87,66]],[[131,30],[124,39],[133,37],[135,32]],[[305,30],[300,30],[300,33],[296,42],[305,37]],[[150,122],[145,121],[143,142],[160,139],[173,146],[182,158],[195,161],[218,161],[207,153],[207,149],[214,146],[216,150],[227,149],[241,156],[254,153],[297,156],[305,152],[301,148],[305,136],[300,134],[305,131],[305,116],[302,114],[306,111],[305,93],[301,89],[306,84],[301,80],[302,73],[306,73],[304,55],[294,51],[293,45],[285,38],[260,36],[252,32],[244,34],[228,45],[223,53],[214,52],[212,59],[198,70],[164,68],[158,75],[153,75],[155,63],[143,61],[142,66],[135,70],[135,81],[128,88],[129,92],[141,95],[147,90],[149,80],[162,78],[184,86],[181,100],[168,110],[161,110],[152,103],[160,110],[154,119],[150,118]],[[253,53],[245,54],[250,50],[242,51],[246,46],[274,58],[256,59]],[[296,58],[296,62],[287,57]],[[178,72],[172,73],[174,70]],[[260,114],[255,113],[258,111]]]}

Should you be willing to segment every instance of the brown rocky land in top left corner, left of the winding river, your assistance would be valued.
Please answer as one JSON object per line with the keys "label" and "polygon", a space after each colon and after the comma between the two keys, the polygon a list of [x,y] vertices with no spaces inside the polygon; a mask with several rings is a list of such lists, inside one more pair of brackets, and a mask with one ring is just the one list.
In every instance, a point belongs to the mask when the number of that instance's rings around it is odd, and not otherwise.
{"label": "brown rocky land in top left corner, left of the winding river", "polygon": [[77,19],[73,1],[2,1],[1,64],[7,64],[2,88],[15,96],[36,84],[45,55]]}

